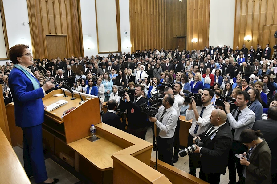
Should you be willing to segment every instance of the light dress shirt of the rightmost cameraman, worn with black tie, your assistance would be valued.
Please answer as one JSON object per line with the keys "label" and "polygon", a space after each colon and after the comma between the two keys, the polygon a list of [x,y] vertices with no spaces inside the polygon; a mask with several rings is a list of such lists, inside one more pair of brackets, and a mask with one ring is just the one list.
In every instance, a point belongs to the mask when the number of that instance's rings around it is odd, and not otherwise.
{"label": "light dress shirt of the rightmost cameraman, worn with black tie", "polygon": [[256,120],[256,116],[247,106],[241,110],[241,113],[238,115],[238,121],[235,120],[237,113],[238,109],[234,110],[233,115],[228,113],[227,118],[230,123],[230,128],[235,129],[234,140],[239,141],[239,136],[242,130],[251,129]]}

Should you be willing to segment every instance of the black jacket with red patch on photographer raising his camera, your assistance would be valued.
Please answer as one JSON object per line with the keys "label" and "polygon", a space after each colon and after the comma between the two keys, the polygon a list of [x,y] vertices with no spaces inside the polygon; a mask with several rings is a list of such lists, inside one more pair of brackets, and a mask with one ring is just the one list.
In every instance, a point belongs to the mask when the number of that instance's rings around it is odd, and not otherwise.
{"label": "black jacket with red patch on photographer raising his camera", "polygon": [[141,97],[136,104],[133,103],[134,98],[130,98],[130,102],[125,103],[124,100],[120,101],[119,109],[127,109],[128,127],[133,129],[145,128],[147,123],[147,114],[142,113],[140,110],[140,105],[143,103],[147,104],[147,99]]}

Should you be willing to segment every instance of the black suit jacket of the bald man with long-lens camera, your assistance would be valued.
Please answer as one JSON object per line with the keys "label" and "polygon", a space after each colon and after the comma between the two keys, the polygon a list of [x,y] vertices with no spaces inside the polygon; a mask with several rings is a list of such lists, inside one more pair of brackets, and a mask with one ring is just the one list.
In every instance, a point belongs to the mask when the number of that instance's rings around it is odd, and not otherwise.
{"label": "black suit jacket of the bald man with long-lens camera", "polygon": [[[199,135],[201,140],[204,142],[204,145],[200,150],[200,153],[202,154],[201,169],[205,174],[225,174],[228,163],[228,154],[233,141],[232,132],[228,123],[225,123],[210,135],[206,135],[212,126],[213,125],[210,125],[204,133]],[[211,140],[211,136],[216,131],[218,132]]]}

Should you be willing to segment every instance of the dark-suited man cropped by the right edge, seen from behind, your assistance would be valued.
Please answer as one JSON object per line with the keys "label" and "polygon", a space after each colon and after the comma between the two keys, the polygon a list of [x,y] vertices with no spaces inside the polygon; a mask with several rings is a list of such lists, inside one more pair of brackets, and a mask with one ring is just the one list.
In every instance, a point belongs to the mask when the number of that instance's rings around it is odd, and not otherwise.
{"label": "dark-suited man cropped by the right edge, seen from behind", "polygon": [[254,122],[252,130],[261,130],[264,138],[271,150],[271,177],[272,183],[277,183],[277,107],[270,107],[267,111],[267,120],[257,120]]}

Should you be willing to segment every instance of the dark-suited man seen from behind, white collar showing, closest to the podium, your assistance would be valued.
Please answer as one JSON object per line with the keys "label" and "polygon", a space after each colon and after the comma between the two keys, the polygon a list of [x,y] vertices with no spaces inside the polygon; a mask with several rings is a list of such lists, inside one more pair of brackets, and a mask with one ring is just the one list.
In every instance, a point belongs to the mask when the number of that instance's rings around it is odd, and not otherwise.
{"label": "dark-suited man seen from behind, white collar showing, closest to the podium", "polygon": [[120,117],[117,115],[117,102],[110,100],[108,103],[108,111],[102,116],[102,122],[122,130]]}

